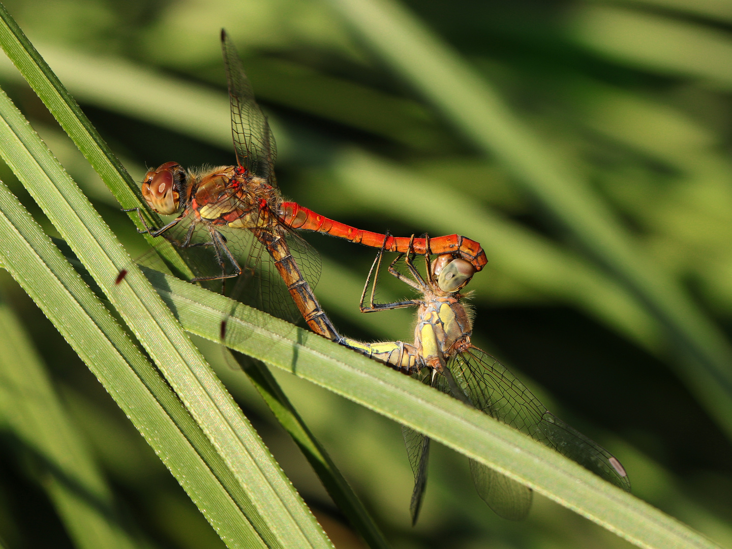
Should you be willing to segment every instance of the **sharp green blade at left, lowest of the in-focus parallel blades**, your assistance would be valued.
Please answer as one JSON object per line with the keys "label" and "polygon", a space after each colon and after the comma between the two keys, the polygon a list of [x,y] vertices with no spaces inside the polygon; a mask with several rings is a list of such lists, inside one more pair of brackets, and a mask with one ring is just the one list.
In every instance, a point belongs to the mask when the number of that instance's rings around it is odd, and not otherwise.
{"label": "sharp green blade at left, lowest of the in-focus parallel blades", "polygon": [[86,362],[195,504],[205,509],[217,533],[229,547],[262,547],[241,509],[190,445],[193,433],[179,429],[192,423],[179,400],[4,185],[0,234],[5,268]]}

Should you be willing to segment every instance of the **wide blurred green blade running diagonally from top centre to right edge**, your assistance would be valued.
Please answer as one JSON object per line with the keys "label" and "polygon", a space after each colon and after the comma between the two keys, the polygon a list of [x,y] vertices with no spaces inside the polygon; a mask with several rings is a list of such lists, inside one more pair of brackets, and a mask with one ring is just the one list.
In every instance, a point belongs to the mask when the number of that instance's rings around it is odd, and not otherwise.
{"label": "wide blurred green blade running diagonally from top centre to right edge", "polygon": [[512,114],[489,83],[403,7],[388,0],[331,4],[474,146],[501,160],[591,255],[639,296],[667,329],[668,341],[679,346],[679,375],[732,436],[732,349],[679,284],[644,258],[589,184]]}

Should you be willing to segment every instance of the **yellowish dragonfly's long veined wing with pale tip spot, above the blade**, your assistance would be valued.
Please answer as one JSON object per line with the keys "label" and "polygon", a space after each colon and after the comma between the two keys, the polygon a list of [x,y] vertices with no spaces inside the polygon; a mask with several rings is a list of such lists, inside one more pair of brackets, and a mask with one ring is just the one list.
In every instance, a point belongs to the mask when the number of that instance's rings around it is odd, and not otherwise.
{"label": "yellowish dragonfly's long veined wing with pale tip spot, above the blade", "polygon": [[455,356],[448,367],[476,408],[630,491],[630,480],[615,456],[551,414],[492,356],[473,347]]}

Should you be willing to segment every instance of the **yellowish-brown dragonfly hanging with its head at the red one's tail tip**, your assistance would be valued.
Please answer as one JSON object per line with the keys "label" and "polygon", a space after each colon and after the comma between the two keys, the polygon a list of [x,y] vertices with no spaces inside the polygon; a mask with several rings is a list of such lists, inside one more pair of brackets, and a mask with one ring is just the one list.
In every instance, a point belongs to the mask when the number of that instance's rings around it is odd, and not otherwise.
{"label": "yellowish-brown dragonfly hanging with its head at the red one's tail tip", "polygon": [[[615,456],[548,411],[506,367],[471,343],[472,319],[459,293],[475,272],[468,261],[439,255],[430,264],[429,255],[425,255],[426,276],[423,277],[413,263],[414,253],[399,255],[389,265],[389,273],[414,288],[419,297],[379,304],[374,302],[374,291],[382,255],[383,250],[369,272],[361,311],[417,307],[414,343],[360,343],[343,337],[342,345],[474,406],[630,491],[625,469]],[[395,268],[402,258],[408,276]],[[370,302],[366,303],[372,280]],[[414,471],[410,510],[412,523],[416,523],[427,485],[430,438],[408,427],[403,427],[403,435]],[[526,517],[531,507],[530,488],[474,460],[470,460],[470,470],[478,493],[488,507],[503,518]]]}

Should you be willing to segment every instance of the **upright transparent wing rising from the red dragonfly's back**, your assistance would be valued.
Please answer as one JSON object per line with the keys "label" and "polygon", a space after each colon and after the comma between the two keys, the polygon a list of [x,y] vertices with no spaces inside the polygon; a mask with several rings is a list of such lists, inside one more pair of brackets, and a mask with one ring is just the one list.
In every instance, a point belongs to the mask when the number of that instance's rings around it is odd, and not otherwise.
{"label": "upright transparent wing rising from the red dragonfly's back", "polygon": [[221,49],[231,101],[231,135],[234,138],[236,162],[255,176],[275,185],[275,136],[254,98],[252,85],[244,73],[236,47],[224,30],[221,31]]}

